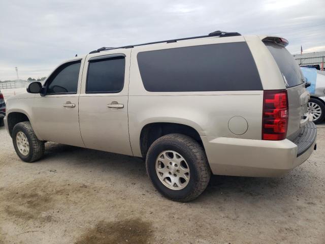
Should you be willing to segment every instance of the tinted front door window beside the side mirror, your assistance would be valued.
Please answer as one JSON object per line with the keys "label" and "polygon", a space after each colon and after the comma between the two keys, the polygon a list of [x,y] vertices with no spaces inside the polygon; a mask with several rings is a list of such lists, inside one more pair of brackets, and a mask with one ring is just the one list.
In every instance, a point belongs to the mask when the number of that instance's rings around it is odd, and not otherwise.
{"label": "tinted front door window beside the side mirror", "polygon": [[77,93],[81,61],[60,66],[49,77],[48,94]]}

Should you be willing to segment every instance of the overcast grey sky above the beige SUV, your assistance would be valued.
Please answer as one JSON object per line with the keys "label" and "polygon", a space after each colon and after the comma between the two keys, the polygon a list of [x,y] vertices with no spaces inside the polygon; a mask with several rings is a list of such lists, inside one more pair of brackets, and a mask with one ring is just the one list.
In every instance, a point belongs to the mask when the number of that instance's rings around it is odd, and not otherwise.
{"label": "overcast grey sky above the beige SUV", "polygon": [[270,34],[288,50],[325,51],[324,0],[0,2],[0,80],[38,78],[64,59],[103,46],[206,35]]}

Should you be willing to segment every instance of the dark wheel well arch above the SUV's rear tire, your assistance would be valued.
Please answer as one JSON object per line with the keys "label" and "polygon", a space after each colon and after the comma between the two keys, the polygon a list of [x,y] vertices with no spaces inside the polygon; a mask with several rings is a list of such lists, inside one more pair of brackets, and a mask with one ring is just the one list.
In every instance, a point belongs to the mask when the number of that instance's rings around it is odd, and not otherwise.
{"label": "dark wheel well arch above the SUV's rear tire", "polygon": [[199,133],[190,126],[175,123],[152,123],[144,126],[140,134],[140,148],[143,157],[146,157],[150,145],[159,137],[172,133],[187,135],[203,146]]}

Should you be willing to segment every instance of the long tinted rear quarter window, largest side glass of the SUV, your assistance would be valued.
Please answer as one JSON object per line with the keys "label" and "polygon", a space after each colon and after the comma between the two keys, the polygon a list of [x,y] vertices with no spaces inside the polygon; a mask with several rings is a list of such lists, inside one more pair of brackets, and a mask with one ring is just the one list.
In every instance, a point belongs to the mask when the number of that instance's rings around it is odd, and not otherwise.
{"label": "long tinted rear quarter window, largest side glass of the SUV", "polygon": [[149,92],[263,89],[245,42],[139,52],[137,58]]}

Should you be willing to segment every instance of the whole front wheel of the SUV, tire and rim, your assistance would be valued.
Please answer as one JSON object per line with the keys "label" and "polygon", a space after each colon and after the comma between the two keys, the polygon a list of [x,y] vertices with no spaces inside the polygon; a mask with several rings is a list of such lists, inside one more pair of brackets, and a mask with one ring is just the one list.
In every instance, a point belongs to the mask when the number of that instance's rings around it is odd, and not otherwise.
{"label": "whole front wheel of the SUV, tire and rim", "polygon": [[31,163],[39,160],[44,155],[44,141],[40,141],[29,121],[18,123],[12,131],[12,141],[18,157]]}

